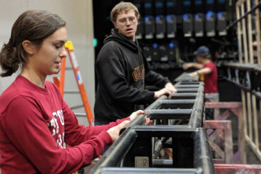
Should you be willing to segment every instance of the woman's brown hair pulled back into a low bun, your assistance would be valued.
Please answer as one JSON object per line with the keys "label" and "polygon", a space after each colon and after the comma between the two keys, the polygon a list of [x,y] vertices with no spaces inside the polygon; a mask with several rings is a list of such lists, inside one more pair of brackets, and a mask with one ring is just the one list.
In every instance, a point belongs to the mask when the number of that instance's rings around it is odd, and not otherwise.
{"label": "woman's brown hair pulled back into a low bun", "polygon": [[39,49],[43,40],[65,24],[61,17],[45,10],[22,13],[13,24],[9,42],[3,45],[0,52],[1,77],[10,76],[19,66],[26,65],[27,53],[22,46],[24,40],[31,41]]}

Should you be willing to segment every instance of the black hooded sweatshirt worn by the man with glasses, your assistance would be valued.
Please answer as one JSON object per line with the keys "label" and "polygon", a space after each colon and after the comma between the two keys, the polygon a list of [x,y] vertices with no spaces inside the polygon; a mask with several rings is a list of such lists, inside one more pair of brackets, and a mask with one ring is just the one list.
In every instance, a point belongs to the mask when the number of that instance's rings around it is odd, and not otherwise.
{"label": "black hooded sweatshirt worn by the man with glasses", "polygon": [[126,118],[139,109],[136,104],[154,101],[154,92],[144,90],[145,84],[164,88],[169,80],[146,67],[138,42],[132,42],[113,29],[104,40],[95,63],[95,122],[107,124]]}

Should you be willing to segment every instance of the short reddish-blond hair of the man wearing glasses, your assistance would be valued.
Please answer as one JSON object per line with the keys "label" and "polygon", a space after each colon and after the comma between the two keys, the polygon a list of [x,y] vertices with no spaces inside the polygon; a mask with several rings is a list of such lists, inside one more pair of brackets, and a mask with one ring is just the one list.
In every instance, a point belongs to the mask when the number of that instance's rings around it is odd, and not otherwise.
{"label": "short reddish-blond hair of the man wearing glasses", "polygon": [[134,10],[135,16],[139,17],[139,10],[130,2],[120,2],[116,6],[113,7],[111,10],[111,21],[116,22],[117,16],[119,13],[122,11],[129,11],[129,10]]}

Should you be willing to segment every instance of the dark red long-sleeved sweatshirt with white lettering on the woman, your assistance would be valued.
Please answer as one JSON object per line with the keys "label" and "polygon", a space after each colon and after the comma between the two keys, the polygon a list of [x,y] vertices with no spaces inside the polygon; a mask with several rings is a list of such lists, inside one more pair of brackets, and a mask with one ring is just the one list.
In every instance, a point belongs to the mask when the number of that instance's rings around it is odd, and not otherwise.
{"label": "dark red long-sleeved sweatshirt with white lettering on the woman", "polygon": [[40,88],[19,76],[0,97],[1,173],[77,171],[111,144],[106,130],[120,122],[79,125],[54,84]]}

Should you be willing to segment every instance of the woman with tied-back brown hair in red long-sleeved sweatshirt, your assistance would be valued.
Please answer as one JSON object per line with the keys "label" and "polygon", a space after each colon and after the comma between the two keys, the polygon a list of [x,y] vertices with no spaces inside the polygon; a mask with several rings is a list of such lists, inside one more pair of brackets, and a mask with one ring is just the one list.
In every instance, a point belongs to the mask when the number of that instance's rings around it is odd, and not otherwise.
{"label": "woman with tied-back brown hair in red long-sleeved sweatshirt", "polygon": [[[29,10],[18,17],[0,53],[2,77],[21,74],[0,97],[2,173],[72,173],[118,139],[129,118],[84,127],[47,75],[57,74],[66,56],[63,19]],[[149,120],[146,119],[145,122]],[[65,143],[72,148],[65,148]]]}

